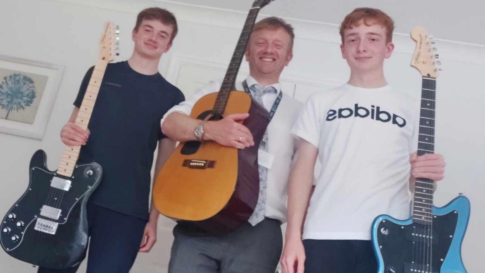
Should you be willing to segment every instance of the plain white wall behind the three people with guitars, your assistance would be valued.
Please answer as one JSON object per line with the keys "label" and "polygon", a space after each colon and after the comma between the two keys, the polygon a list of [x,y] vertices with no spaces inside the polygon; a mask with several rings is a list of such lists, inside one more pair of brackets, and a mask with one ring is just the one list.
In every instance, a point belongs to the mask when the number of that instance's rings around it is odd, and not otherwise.
{"label": "plain white wall behind the three people with guitars", "polygon": [[[0,54],[65,65],[54,109],[42,140],[0,134],[0,215],[23,193],[28,183],[27,168],[33,152],[43,149],[48,166],[54,169],[61,156],[59,132],[72,110],[81,78],[97,58],[97,41],[106,20],[121,27],[121,56],[129,58],[133,45],[130,31],[136,14],[145,7],[160,6],[174,12],[179,34],[169,53],[162,57],[160,71],[179,86],[178,72],[208,67],[220,70],[228,63],[239,36],[244,13],[179,5],[163,1],[128,0],[0,0]],[[82,2],[82,4],[81,4]],[[264,10],[262,11],[264,13]],[[334,25],[289,20],[295,27],[294,58],[282,80],[294,86],[295,98],[304,101],[315,91],[344,83],[348,68],[339,53],[339,34]],[[8,26],[8,27],[5,27]],[[430,30],[432,33],[432,30]],[[437,37],[439,38],[439,37]],[[409,67],[414,42],[408,34],[395,34],[396,50],[386,62],[388,82],[420,94],[420,74]],[[485,47],[437,41],[445,69],[438,79],[436,151],[447,160],[446,177],[439,182],[436,205],[445,205],[458,192],[472,206],[463,259],[469,272],[482,272],[485,253],[485,115],[482,77]],[[199,71],[204,69],[199,69]],[[184,70],[187,71],[187,70]],[[247,73],[243,64],[242,73]],[[208,72],[208,77],[217,74]],[[194,77],[200,81],[201,76]],[[210,79],[208,78],[207,81]],[[320,87],[319,87],[320,86]],[[182,90],[186,94],[193,90]],[[149,254],[140,254],[132,272],[165,272],[172,242],[173,223],[161,219],[159,239]],[[1,272],[27,273],[28,264],[0,253]],[[84,265],[83,265],[84,266]],[[84,268],[84,267],[83,267]],[[83,272],[83,271],[80,271]]]}

